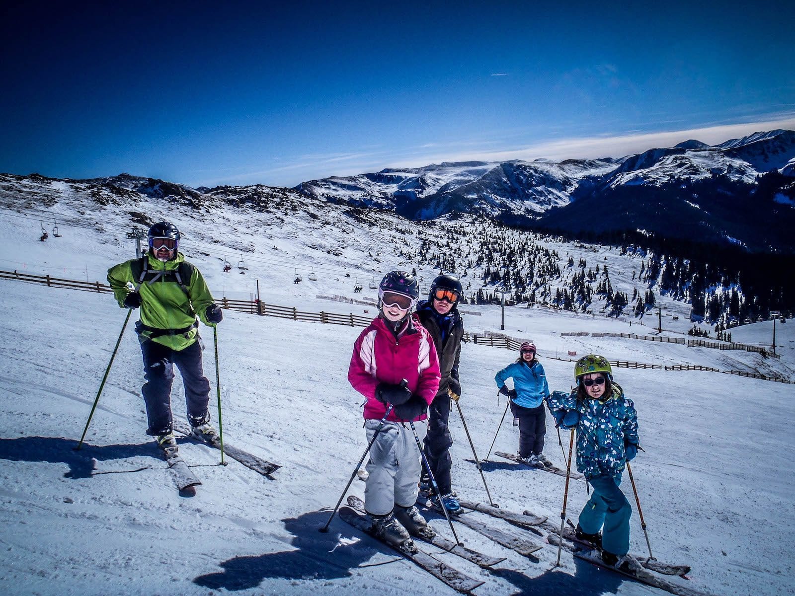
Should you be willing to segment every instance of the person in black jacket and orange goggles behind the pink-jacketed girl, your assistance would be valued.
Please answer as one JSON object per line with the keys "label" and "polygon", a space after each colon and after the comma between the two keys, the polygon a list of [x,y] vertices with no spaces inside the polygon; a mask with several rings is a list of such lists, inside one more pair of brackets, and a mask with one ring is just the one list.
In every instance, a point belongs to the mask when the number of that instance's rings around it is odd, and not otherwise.
{"label": "person in black jacket and orange goggles behind the pink-jacketed girl", "polygon": [[[428,412],[428,434],[425,435],[425,457],[431,466],[433,477],[439,485],[439,495],[434,495],[436,507],[444,505],[448,513],[460,513],[461,505],[452,493],[450,479],[450,447],[452,437],[448,429],[450,400],[458,400],[461,385],[458,381],[458,364],[463,338],[463,321],[458,313],[461,298],[461,282],[452,275],[440,275],[431,284],[428,300],[417,306],[417,315],[422,326],[433,338],[439,356],[441,381],[439,391]],[[430,478],[423,473],[421,488],[429,490]]]}

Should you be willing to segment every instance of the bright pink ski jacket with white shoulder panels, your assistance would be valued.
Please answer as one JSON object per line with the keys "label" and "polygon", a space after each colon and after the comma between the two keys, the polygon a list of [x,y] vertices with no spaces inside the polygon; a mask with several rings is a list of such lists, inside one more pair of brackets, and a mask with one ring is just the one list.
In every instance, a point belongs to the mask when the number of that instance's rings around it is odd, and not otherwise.
{"label": "bright pink ski jacket with white shoulder panels", "polygon": [[[376,385],[399,385],[401,379],[409,381],[411,393],[430,404],[436,397],[440,381],[436,347],[428,331],[413,316],[398,339],[378,316],[359,334],[353,346],[351,366],[348,367],[348,381],[367,398],[364,405],[366,420],[380,420],[386,414],[386,405],[375,397]],[[426,417],[423,414],[417,420],[425,420]],[[387,420],[397,420],[394,412],[390,412]]]}

